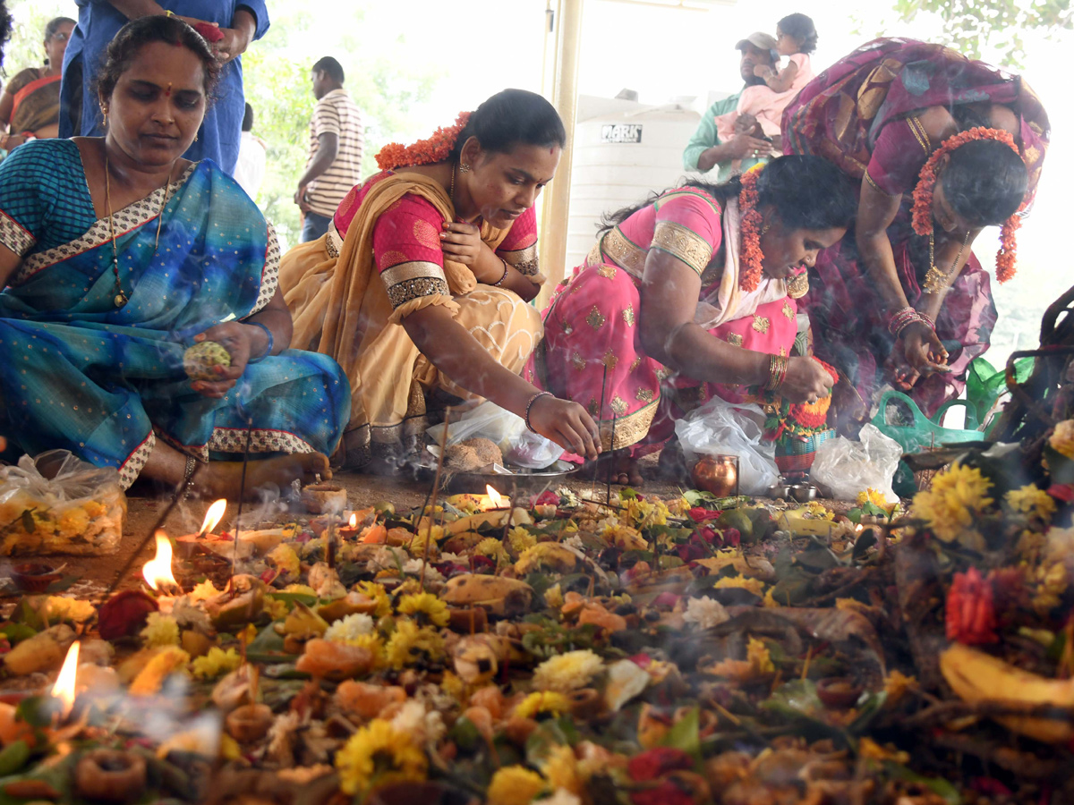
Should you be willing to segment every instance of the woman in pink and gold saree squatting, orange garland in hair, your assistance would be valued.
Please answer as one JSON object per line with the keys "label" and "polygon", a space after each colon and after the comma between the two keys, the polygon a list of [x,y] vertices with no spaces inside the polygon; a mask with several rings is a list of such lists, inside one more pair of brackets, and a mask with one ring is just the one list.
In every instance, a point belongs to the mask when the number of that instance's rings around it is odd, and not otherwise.
{"label": "woman in pink and gold saree squatting, orange garland in hair", "polygon": [[619,210],[546,309],[526,378],[583,405],[615,451],[619,482],[634,484],[637,458],[713,395],[826,396],[830,375],[790,356],[794,296],[801,267],[843,236],[854,204],[834,165],[783,157]]}

